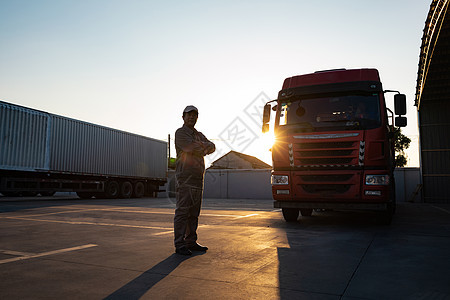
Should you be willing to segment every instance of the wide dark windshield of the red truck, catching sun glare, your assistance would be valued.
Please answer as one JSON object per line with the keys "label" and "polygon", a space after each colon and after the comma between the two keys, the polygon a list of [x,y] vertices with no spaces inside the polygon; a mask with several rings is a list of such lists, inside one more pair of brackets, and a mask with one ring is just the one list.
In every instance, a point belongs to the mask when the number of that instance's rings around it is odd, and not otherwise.
{"label": "wide dark windshield of the red truck, catching sun glare", "polygon": [[280,129],[298,132],[373,129],[381,125],[377,94],[296,99],[280,103]]}

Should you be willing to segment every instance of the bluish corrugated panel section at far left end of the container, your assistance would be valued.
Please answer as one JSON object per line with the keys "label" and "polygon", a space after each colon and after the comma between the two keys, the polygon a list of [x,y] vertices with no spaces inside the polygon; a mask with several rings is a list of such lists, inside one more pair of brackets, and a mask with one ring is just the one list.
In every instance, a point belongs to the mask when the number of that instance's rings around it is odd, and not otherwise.
{"label": "bluish corrugated panel section at far left end of the container", "polygon": [[48,170],[49,115],[0,102],[0,168]]}

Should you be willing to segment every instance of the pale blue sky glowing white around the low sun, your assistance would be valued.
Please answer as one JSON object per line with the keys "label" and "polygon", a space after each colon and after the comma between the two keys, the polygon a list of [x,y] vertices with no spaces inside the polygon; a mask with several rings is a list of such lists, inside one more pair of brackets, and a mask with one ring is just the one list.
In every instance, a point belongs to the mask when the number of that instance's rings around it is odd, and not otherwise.
{"label": "pale blue sky glowing white around the low sun", "polygon": [[[0,100],[160,140],[187,105],[216,144],[271,162],[262,106],[283,80],[376,68],[406,94],[408,166],[431,0],[0,0]],[[393,95],[387,105],[393,109]]]}

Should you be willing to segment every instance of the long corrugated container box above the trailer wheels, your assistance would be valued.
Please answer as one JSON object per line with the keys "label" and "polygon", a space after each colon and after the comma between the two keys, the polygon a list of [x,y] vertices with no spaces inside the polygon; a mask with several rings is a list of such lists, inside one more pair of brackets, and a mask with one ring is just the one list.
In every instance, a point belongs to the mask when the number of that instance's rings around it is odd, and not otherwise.
{"label": "long corrugated container box above the trailer wheels", "polygon": [[167,143],[0,102],[7,170],[165,178]]}

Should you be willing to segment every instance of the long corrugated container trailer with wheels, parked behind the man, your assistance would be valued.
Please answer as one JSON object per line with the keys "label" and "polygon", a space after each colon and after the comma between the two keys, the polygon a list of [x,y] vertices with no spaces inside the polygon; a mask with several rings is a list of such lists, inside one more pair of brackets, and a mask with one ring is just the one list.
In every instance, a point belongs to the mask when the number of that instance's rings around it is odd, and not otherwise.
{"label": "long corrugated container trailer with wheels, parked behind the man", "polygon": [[0,193],[156,196],[167,142],[0,101]]}

